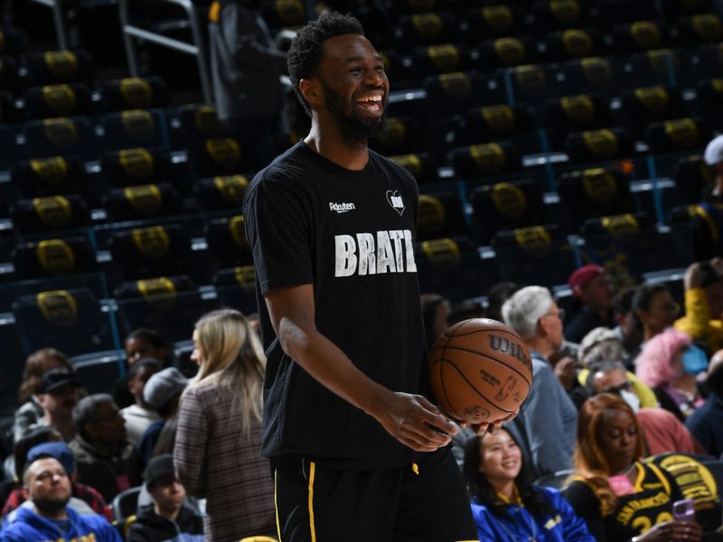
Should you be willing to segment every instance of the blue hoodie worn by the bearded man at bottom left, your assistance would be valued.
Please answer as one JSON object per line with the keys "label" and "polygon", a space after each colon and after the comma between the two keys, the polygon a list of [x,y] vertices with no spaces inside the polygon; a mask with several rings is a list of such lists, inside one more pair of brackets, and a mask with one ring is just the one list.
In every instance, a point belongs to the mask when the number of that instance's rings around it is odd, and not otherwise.
{"label": "blue hoodie worn by the bearded man at bottom left", "polygon": [[19,508],[13,523],[0,532],[0,542],[122,542],[117,530],[99,515],[80,516],[66,507],[68,530],[36,514]]}

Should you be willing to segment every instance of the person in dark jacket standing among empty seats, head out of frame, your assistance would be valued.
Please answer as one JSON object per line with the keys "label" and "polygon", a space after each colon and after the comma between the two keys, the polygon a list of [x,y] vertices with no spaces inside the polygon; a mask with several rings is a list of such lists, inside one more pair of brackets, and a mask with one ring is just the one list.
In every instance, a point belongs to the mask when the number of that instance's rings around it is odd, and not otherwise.
{"label": "person in dark jacket standing among empty seats, head out of frame", "polygon": [[280,77],[286,53],[279,51],[258,11],[258,0],[214,2],[209,14],[211,76],[219,118],[233,126],[260,169],[275,155],[283,108]]}

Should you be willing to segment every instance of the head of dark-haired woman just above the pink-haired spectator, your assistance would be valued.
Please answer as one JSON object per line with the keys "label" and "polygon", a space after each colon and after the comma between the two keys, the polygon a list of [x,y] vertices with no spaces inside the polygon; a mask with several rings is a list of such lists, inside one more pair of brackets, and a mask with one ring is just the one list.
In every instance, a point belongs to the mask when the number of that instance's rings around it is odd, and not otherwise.
{"label": "head of dark-haired woman just above the pink-haired spectator", "polygon": [[[637,327],[643,333],[643,342],[635,358],[646,341],[671,327],[680,310],[666,285],[638,286],[633,297],[633,312]],[[631,369],[634,369],[633,365],[631,363]]]}

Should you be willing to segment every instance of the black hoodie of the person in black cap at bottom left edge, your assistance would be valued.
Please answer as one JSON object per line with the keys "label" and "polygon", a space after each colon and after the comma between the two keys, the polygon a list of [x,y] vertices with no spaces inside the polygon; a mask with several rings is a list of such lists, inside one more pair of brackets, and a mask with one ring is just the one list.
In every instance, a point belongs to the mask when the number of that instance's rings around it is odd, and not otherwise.
{"label": "black hoodie of the person in black cap at bottom left edge", "polygon": [[155,513],[154,505],[141,507],[138,519],[128,530],[127,542],[203,542],[203,519],[183,507],[175,521]]}

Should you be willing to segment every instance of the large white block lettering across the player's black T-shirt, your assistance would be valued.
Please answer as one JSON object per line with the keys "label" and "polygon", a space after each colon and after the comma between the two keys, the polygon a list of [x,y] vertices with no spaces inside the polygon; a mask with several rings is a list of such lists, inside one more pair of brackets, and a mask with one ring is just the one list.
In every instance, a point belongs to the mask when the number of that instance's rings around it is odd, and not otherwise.
{"label": "large white block lettering across the player's black T-shirt", "polygon": [[334,276],[417,273],[412,232],[390,229],[335,235]]}

